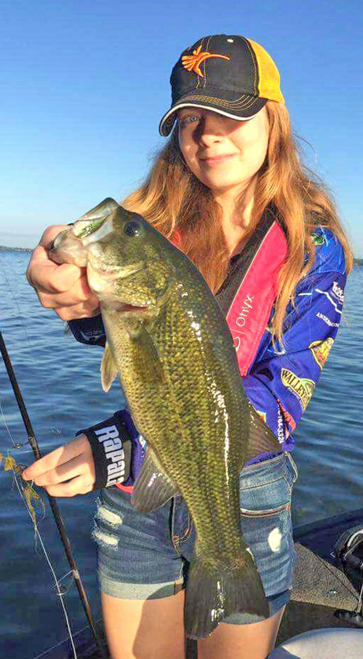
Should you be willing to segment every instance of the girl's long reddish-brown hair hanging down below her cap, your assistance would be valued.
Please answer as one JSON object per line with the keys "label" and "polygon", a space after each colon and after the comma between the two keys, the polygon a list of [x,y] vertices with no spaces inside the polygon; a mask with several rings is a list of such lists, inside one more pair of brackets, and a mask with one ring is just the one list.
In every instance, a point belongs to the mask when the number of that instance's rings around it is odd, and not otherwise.
{"label": "girl's long reddish-brown hair hanging down below her cap", "polygon": [[[294,299],[298,281],[314,262],[315,246],[311,238],[314,228],[321,225],[333,231],[343,246],[347,272],[352,268],[353,257],[329,190],[302,163],[285,105],[267,101],[266,108],[267,156],[258,172],[252,219],[244,239],[254,233],[265,208],[273,204],[285,224],[289,246],[287,260],[279,273],[271,328],[273,337],[281,340],[287,305]],[[211,291],[218,291],[231,258],[222,230],[221,206],[186,166],[177,128],[157,154],[144,185],[126,197],[123,206],[143,215],[167,237],[177,229],[182,236],[183,252],[202,272]],[[308,262],[304,264],[306,253]]]}

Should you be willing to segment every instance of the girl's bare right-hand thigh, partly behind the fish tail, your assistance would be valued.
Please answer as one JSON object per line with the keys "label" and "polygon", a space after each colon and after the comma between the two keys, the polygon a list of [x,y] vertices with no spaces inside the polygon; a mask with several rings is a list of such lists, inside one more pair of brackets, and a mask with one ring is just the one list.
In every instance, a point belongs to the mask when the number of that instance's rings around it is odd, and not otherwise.
{"label": "girl's bare right-hand thigh, partly behind the fish tail", "polygon": [[285,606],[275,616],[250,625],[221,623],[198,641],[198,659],[265,659],[273,650]]}

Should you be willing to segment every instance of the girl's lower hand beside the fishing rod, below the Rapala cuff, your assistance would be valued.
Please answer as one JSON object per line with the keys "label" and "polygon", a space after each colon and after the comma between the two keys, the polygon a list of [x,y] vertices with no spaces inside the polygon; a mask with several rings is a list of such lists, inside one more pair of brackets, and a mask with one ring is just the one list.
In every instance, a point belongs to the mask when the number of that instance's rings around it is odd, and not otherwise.
{"label": "girl's lower hand beside the fishing rod, below the Rapala cuff", "polygon": [[75,496],[92,492],[96,471],[92,448],[83,433],[51,451],[22,473],[24,480],[34,480],[50,496]]}

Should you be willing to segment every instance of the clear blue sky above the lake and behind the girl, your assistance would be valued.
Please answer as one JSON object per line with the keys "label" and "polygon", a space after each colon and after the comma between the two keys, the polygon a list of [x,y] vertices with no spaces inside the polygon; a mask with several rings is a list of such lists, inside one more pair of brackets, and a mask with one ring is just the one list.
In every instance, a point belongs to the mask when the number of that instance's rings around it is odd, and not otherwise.
{"label": "clear blue sky above the lake and behind the girl", "polygon": [[281,72],[306,163],[331,188],[363,257],[361,0],[0,0],[0,244],[120,200],[161,146],[181,51],[225,32],[261,43]]}

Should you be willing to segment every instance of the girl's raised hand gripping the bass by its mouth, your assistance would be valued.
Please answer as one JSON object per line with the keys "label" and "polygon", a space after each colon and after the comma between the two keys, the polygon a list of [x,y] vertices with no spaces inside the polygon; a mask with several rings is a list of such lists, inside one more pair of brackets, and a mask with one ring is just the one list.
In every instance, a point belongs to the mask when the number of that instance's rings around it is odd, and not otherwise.
{"label": "girl's raised hand gripping the bass by its mouth", "polygon": [[55,310],[62,320],[90,318],[99,313],[99,301],[87,283],[86,268],[72,264],[54,263],[47,247],[67,225],[53,225],[45,229],[26,270],[26,279],[42,306]]}

